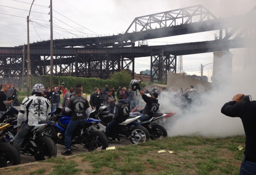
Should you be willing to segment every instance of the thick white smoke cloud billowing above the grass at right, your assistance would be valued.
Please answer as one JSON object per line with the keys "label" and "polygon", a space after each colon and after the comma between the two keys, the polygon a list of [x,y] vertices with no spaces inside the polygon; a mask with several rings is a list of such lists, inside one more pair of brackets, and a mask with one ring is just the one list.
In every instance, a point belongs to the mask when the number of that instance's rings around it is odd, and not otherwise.
{"label": "thick white smoke cloud billowing above the grass at right", "polygon": [[[170,102],[170,93],[163,93],[163,98],[159,98],[161,112],[176,112],[173,118],[167,119],[164,123],[168,135],[204,135],[215,137],[244,135],[241,119],[239,117],[227,117],[220,112],[220,109],[237,93],[251,95],[252,100],[255,100],[255,50],[255,48],[251,48],[249,51],[251,59],[245,58],[247,54],[243,54],[243,57],[236,57],[236,54],[234,54],[233,66],[234,63],[238,62],[238,59],[239,66],[242,68],[240,70],[233,70],[232,77],[228,79],[226,76],[219,76],[218,79],[221,84],[214,86],[209,95],[204,96],[201,94],[203,103],[199,105],[192,102],[191,107],[176,107]],[[242,51],[248,52],[248,49],[242,49]],[[225,57],[223,59],[225,60]],[[249,62],[250,64],[244,65],[244,62]],[[221,68],[220,71],[220,75],[227,73],[225,68]]]}

